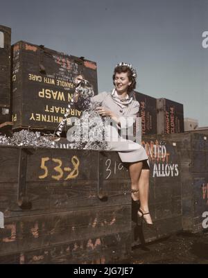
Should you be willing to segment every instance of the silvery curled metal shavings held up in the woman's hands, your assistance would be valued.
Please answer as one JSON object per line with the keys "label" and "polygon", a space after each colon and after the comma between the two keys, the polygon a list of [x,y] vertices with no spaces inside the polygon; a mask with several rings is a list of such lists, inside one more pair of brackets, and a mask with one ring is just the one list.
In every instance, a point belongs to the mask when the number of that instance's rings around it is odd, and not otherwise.
{"label": "silvery curled metal shavings held up in the woman's hands", "polygon": [[[103,119],[95,111],[99,103],[91,103],[90,98],[94,96],[94,90],[88,80],[83,76],[78,76],[75,80],[76,89],[73,94],[73,100],[68,104],[64,119],[59,123],[58,128],[54,132],[54,141],[60,139],[62,130],[65,125],[67,116],[71,109],[71,105],[75,105],[76,109],[83,111],[83,116],[77,119],[73,126],[73,133],[67,139],[70,142],[70,148],[84,150],[107,150],[107,142],[105,142],[105,127]],[[78,97],[78,98],[77,98]],[[56,138],[55,138],[56,137]]]}

